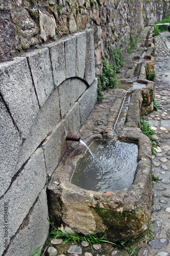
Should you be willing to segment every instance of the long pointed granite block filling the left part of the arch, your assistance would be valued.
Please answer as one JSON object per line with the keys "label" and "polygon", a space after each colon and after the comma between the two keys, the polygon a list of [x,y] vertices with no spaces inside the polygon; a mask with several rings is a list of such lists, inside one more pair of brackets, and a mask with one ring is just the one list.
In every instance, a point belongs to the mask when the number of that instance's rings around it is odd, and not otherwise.
{"label": "long pointed granite block filling the left part of the arch", "polygon": [[55,89],[43,104],[26,140],[23,142],[19,153],[17,170],[27,161],[60,120],[59,95],[58,89]]}

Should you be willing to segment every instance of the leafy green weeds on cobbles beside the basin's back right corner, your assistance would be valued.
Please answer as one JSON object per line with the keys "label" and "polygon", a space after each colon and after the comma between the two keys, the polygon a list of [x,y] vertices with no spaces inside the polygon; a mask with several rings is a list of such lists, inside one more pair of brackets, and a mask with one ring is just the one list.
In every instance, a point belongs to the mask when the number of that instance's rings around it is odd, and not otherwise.
{"label": "leafy green weeds on cobbles beside the basin's back right corner", "polygon": [[140,124],[141,124],[142,133],[147,135],[151,140],[152,156],[156,157],[156,155],[157,155],[156,148],[157,148],[157,146],[159,146],[159,142],[156,139],[154,139],[152,136],[154,134],[154,131],[151,129],[150,124],[147,121],[145,121],[142,117],[140,117]]}

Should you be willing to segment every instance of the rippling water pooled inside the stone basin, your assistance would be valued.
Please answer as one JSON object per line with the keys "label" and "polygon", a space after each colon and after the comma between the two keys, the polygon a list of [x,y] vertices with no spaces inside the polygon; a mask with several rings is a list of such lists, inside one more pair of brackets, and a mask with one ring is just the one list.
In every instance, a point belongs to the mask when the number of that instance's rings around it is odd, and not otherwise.
{"label": "rippling water pooled inside the stone basin", "polygon": [[71,183],[93,191],[113,191],[132,185],[138,147],[134,143],[95,140],[78,161]]}

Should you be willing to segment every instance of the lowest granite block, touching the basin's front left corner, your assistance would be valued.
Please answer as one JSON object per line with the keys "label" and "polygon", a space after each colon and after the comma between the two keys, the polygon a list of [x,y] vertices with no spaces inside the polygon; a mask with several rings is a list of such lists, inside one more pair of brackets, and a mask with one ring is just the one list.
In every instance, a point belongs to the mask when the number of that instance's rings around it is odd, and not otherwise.
{"label": "lowest granite block, touching the basin's front left corner", "polygon": [[46,193],[45,189],[43,189],[30,216],[23,222],[22,229],[12,239],[6,255],[29,255],[31,247],[33,251],[43,245],[49,229],[47,218]]}

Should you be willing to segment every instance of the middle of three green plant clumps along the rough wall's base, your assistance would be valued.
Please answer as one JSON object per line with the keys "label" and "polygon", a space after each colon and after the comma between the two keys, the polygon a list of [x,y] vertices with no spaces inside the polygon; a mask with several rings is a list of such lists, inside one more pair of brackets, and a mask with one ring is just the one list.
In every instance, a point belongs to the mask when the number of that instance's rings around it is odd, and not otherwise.
{"label": "middle of three green plant clumps along the rough wall's base", "polygon": [[117,73],[119,69],[124,66],[123,52],[120,48],[111,48],[110,56],[113,70]]}

